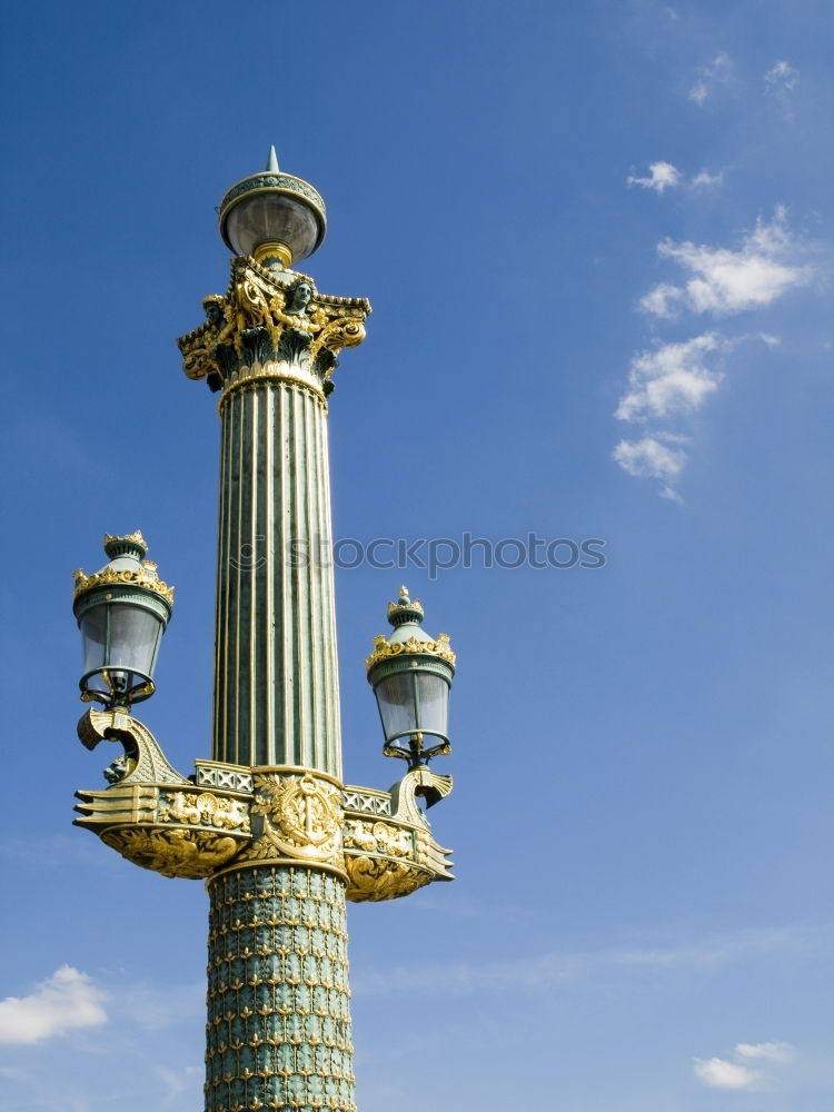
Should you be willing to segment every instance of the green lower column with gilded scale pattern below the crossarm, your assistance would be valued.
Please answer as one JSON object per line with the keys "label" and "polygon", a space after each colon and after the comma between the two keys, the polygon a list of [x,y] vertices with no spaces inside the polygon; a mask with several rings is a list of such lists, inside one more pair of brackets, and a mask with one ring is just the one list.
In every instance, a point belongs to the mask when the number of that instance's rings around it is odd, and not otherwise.
{"label": "green lower column with gilded scale pattern below the crossarm", "polygon": [[259,865],[207,886],[206,1112],[356,1112],[344,882]]}

